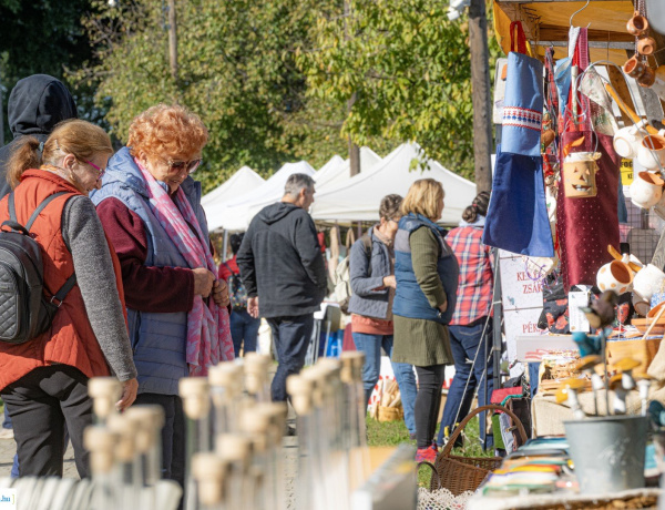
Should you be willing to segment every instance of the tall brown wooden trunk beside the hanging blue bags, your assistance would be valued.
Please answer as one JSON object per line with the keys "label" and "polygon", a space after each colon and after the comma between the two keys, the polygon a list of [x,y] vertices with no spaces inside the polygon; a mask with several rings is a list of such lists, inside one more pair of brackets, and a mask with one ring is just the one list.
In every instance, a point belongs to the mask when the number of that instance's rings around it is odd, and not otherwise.
{"label": "tall brown wooden trunk beside the hanging blue bags", "polygon": [[475,187],[480,193],[492,187],[491,154],[493,152],[488,18],[484,0],[471,0],[469,6],[469,44],[473,102],[473,159]]}

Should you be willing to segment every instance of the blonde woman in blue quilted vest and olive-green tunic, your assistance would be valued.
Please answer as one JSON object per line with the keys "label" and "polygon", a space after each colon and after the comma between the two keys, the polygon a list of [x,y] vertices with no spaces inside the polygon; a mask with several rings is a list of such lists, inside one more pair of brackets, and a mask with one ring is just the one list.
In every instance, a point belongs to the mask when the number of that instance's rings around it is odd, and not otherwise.
{"label": "blonde woman in blue quilted vest and olive-green tunic", "polygon": [[397,290],[393,363],[416,367],[417,461],[433,461],[437,417],[446,365],[452,364],[448,323],[457,299],[459,266],[437,225],[443,212],[443,187],[433,178],[416,181],[405,197],[395,238]]}

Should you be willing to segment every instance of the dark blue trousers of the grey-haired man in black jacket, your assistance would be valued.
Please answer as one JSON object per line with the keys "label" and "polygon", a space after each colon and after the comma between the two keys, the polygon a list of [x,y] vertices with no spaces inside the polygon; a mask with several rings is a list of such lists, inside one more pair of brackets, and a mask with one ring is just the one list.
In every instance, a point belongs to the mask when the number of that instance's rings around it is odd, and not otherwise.
{"label": "dark blue trousers of the grey-haired man in black jacket", "polygon": [[273,344],[279,364],[270,388],[273,400],[286,401],[286,378],[298,374],[305,365],[314,328],[314,314],[270,317],[267,322],[273,332]]}

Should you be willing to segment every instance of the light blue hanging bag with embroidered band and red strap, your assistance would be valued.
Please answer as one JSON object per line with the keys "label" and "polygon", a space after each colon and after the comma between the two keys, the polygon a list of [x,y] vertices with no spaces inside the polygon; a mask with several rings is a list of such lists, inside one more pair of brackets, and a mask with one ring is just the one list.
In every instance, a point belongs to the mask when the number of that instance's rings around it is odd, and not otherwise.
{"label": "light blue hanging bag with embroidered band and red strap", "polygon": [[543,121],[543,64],[526,53],[520,21],[510,24],[501,146],[503,152],[540,157]]}

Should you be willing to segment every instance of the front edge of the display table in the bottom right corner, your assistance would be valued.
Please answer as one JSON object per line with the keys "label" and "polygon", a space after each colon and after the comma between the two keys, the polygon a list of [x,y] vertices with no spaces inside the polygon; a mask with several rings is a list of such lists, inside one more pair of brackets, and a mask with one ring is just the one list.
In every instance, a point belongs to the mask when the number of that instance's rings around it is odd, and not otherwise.
{"label": "front edge of the display table in the bottom right corner", "polygon": [[612,494],[550,493],[508,498],[490,498],[477,493],[467,502],[467,510],[656,508],[661,492],[661,489],[633,489]]}

